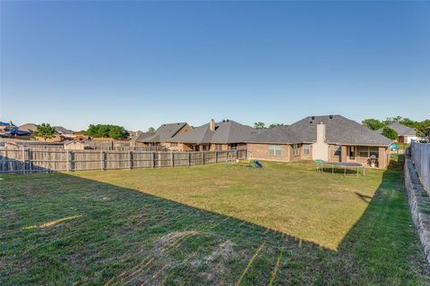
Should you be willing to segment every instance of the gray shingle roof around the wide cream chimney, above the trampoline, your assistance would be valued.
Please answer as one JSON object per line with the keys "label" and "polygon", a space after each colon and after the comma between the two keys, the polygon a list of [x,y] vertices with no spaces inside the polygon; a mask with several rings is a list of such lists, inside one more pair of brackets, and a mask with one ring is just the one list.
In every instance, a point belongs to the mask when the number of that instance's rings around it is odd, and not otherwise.
{"label": "gray shingle roof around the wide cream chimney, above the trampoline", "polygon": [[[332,118],[330,118],[332,117]],[[316,140],[316,125],[325,124],[325,138],[327,143],[363,146],[389,146],[391,139],[368,129],[366,126],[345,118],[341,115],[323,115],[305,117],[288,126],[288,130],[297,135],[301,142]]]}

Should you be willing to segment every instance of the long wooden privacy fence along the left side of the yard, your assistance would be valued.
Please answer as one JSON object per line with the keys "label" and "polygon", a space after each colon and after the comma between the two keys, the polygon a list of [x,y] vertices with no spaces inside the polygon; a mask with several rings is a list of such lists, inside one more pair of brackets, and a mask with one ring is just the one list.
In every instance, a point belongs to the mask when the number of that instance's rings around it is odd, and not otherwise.
{"label": "long wooden privacy fence along the left side of the yard", "polygon": [[73,172],[216,164],[246,159],[246,150],[141,152],[0,148],[1,172]]}

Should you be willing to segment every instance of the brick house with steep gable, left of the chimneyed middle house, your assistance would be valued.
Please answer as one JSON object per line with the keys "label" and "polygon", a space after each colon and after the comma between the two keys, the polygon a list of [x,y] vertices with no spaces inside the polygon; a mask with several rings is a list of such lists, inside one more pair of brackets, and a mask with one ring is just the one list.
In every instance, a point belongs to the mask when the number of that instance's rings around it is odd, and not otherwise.
{"label": "brick house with steep gable, left of the chimneyed middle house", "polygon": [[175,142],[172,144],[172,138],[189,130],[192,128],[186,122],[163,124],[155,130],[155,134],[143,139],[136,139],[135,146],[160,146],[176,151],[178,149],[177,144]]}

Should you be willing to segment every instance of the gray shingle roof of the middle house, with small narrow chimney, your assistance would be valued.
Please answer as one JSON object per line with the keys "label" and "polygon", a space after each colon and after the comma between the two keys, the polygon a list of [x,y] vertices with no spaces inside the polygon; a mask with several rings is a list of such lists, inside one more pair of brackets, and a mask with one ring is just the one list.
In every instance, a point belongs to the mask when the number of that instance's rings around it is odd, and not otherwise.
{"label": "gray shingle roof of the middle house, with small narrow chimney", "polygon": [[178,134],[172,142],[193,143],[193,144],[230,144],[243,143],[256,134],[256,130],[251,126],[243,125],[234,121],[215,123],[215,131],[211,131],[209,123],[189,130],[186,133]]}

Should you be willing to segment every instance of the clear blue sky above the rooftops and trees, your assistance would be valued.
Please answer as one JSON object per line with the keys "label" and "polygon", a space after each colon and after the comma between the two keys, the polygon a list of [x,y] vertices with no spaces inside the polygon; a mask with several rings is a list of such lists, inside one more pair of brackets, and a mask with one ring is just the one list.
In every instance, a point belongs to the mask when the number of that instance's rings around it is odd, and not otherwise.
{"label": "clear blue sky above the rooftops and trees", "polygon": [[429,2],[0,3],[0,120],[430,117]]}

